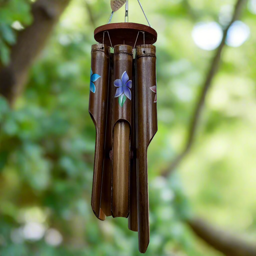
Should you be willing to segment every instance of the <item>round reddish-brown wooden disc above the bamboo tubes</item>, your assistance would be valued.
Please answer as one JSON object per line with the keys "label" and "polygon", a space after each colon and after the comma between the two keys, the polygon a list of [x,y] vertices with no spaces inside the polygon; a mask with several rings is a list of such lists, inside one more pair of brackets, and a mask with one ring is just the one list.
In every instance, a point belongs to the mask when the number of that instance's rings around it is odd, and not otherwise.
{"label": "round reddish-brown wooden disc above the bamboo tubes", "polygon": [[[108,32],[110,34],[110,38]],[[155,29],[152,27],[137,24],[137,23],[112,23],[100,26],[94,31],[94,38],[97,42],[103,43],[103,34],[104,36],[104,44],[111,47],[115,45],[125,44],[134,47],[136,42],[136,38],[138,36],[138,32],[145,32],[145,44],[154,44],[157,41],[158,34]],[[111,39],[111,43],[110,43]],[[144,36],[143,33],[139,33],[136,46],[144,44]]]}

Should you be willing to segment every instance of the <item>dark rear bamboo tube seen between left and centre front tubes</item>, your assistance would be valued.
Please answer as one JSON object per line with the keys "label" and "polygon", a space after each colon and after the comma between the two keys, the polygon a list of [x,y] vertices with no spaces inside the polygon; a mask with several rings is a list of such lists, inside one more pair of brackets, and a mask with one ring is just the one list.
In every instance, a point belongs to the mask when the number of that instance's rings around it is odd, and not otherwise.
{"label": "dark rear bamboo tube seen between left and centre front tubes", "polygon": [[112,150],[112,114],[113,114],[113,90],[114,90],[114,54],[110,53],[110,73],[109,73],[109,96],[105,139],[105,159],[103,168],[103,181],[101,192],[101,208],[106,216],[111,216],[111,178],[112,160],[110,151]]}

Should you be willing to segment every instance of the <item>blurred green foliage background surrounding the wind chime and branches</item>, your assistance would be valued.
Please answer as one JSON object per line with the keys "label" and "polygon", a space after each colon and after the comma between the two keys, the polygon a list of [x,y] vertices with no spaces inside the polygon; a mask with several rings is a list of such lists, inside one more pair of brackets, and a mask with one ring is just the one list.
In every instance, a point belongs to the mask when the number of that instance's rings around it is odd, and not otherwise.
{"label": "blurred green foliage background surrounding the wind chime and branches", "polygon": [[[144,23],[130,1],[130,22]],[[224,229],[256,235],[256,35],[226,48],[207,97],[194,150],[165,179],[161,171],[186,138],[212,51],[199,49],[197,22],[219,22],[232,0],[150,1],[158,31],[158,134],[149,147],[151,241],[148,256],[220,256],[200,242],[184,219],[200,214]],[[88,1],[94,23],[105,24],[108,0]],[[54,30],[14,109],[0,98],[0,255],[136,256],[137,234],[127,219],[100,222],[90,207],[95,128],[88,114],[92,21],[73,0]],[[30,2],[0,5],[0,56],[8,63],[11,25],[31,23]],[[122,9],[113,22],[122,21]],[[256,16],[242,17],[251,31]],[[32,234],[31,234],[32,233]],[[34,236],[33,236],[34,234]],[[59,239],[59,240],[58,240]]]}

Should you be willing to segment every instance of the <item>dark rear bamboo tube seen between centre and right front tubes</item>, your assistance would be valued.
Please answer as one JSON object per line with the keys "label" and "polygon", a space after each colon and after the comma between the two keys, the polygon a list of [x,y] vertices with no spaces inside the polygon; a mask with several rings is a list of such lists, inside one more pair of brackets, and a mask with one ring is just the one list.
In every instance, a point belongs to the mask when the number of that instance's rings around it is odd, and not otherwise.
{"label": "dark rear bamboo tube seen between centre and right front tubes", "polygon": [[[135,84],[135,60],[133,61],[133,90],[132,90],[132,119],[136,119],[136,84]],[[131,131],[131,152],[133,158],[130,166],[130,214],[128,228],[131,231],[138,231],[138,212],[137,212],[137,161],[136,161],[136,122],[132,123]]]}

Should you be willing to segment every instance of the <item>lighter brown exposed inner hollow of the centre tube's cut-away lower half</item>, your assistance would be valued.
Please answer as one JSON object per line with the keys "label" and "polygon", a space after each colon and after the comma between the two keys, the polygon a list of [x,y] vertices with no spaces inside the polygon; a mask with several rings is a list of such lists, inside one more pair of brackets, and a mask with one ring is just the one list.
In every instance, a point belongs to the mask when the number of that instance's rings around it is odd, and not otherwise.
{"label": "lighter brown exposed inner hollow of the centre tube's cut-away lower half", "polygon": [[129,215],[129,167],[130,167],[130,125],[117,122],[113,140],[113,217],[127,218]]}

